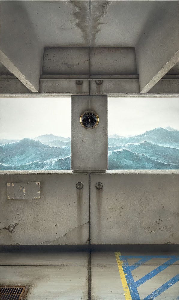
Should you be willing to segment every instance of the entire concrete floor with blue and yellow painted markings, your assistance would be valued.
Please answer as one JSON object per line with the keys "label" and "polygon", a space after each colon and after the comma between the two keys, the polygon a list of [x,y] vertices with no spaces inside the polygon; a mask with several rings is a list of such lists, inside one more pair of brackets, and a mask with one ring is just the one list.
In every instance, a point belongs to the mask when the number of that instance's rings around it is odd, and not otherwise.
{"label": "entire concrete floor with blue and yellow painted markings", "polygon": [[29,300],[179,299],[178,253],[119,251],[3,251],[0,282],[29,284]]}

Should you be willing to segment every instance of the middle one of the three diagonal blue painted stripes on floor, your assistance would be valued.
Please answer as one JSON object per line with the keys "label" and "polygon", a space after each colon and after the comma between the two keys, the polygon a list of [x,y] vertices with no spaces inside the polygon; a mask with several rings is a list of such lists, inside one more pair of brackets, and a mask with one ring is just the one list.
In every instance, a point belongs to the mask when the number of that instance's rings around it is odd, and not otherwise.
{"label": "middle one of the three diagonal blue painted stripes on floor", "polygon": [[172,258],[172,259],[167,260],[167,262],[164,262],[163,265],[160,265],[156,269],[154,269],[151,272],[149,272],[148,274],[146,274],[144,277],[137,280],[135,282],[136,287],[140,286],[141,284],[145,283],[147,280],[151,279],[152,277],[154,277],[161,271],[165,270],[166,268],[168,268],[170,265],[172,265],[177,260],[178,260],[178,258]]}

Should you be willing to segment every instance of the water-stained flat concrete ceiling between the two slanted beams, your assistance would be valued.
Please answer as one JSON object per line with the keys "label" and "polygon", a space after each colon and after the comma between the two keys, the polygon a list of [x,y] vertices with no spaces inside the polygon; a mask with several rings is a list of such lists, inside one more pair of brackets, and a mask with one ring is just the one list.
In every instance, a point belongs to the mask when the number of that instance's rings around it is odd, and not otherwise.
{"label": "water-stained flat concrete ceiling between the two slanted beams", "polygon": [[146,20],[167,2],[25,0],[16,5],[26,11],[43,47],[89,46],[89,35],[94,47],[135,47]]}

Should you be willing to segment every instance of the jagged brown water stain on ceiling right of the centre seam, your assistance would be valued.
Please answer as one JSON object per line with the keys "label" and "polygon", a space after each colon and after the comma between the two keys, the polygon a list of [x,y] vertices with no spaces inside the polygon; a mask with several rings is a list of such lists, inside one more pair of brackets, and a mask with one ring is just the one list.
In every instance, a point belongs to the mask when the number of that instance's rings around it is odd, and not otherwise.
{"label": "jagged brown water stain on ceiling right of the centre seam", "polygon": [[103,22],[103,17],[106,16],[109,5],[112,4],[113,1],[95,1],[93,2],[91,12],[92,12],[92,22],[91,22],[91,45],[93,46],[96,35],[98,32],[103,29],[100,28],[101,25],[107,24]]}

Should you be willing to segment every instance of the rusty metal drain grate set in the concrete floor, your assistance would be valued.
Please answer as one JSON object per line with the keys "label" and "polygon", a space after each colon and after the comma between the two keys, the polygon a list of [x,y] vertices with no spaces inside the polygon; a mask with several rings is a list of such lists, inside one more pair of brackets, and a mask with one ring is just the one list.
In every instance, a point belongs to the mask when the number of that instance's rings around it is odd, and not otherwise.
{"label": "rusty metal drain grate set in the concrete floor", "polygon": [[24,299],[29,285],[0,285],[0,300]]}

